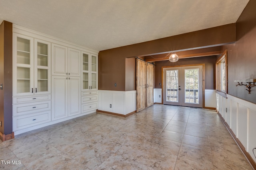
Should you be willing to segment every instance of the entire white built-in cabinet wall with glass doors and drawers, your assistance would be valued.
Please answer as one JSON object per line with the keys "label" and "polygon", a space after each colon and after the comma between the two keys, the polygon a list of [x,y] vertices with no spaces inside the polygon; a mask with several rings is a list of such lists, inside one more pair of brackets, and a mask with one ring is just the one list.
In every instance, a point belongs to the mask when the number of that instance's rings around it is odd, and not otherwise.
{"label": "entire white built-in cabinet wall with glass doors and drawers", "polygon": [[98,109],[98,52],[13,25],[13,131]]}

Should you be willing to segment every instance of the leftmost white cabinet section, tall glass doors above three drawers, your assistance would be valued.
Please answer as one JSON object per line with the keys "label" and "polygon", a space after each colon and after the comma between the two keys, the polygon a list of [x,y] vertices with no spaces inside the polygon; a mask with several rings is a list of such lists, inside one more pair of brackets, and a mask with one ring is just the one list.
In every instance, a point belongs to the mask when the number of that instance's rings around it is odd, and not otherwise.
{"label": "leftmost white cabinet section, tall glass doors above three drawers", "polygon": [[13,34],[13,130],[51,121],[50,42]]}

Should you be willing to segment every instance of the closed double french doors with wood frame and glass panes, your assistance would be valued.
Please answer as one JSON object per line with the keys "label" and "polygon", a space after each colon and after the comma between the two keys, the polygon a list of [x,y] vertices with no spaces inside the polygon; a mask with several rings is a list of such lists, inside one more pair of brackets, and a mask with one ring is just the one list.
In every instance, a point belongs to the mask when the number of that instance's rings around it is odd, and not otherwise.
{"label": "closed double french doors with wood frame and glass panes", "polygon": [[202,108],[202,66],[163,69],[163,103]]}

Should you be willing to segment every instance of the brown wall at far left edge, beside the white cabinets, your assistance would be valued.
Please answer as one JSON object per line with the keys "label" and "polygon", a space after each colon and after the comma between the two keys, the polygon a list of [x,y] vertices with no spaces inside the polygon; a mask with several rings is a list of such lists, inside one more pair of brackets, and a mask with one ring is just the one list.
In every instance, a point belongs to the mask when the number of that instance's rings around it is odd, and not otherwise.
{"label": "brown wall at far left edge, beside the white cabinets", "polygon": [[0,25],[0,132],[12,134],[12,23]]}

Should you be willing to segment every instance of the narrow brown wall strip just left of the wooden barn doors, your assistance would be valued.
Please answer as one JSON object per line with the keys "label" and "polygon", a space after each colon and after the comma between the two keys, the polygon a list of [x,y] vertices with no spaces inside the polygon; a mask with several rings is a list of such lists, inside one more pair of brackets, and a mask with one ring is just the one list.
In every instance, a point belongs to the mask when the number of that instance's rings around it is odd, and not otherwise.
{"label": "narrow brown wall strip just left of the wooden barn doors", "polygon": [[125,91],[136,90],[136,59],[125,59]]}

